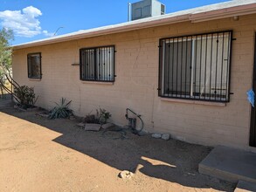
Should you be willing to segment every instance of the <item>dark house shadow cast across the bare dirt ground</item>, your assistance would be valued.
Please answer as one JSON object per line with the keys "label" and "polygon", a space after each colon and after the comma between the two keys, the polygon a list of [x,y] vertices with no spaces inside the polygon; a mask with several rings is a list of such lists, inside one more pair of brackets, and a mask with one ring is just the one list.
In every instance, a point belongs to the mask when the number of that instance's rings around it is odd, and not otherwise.
{"label": "dark house shadow cast across the bare dirt ground", "polygon": [[121,139],[121,133],[86,132],[74,127],[77,123],[75,120],[47,120],[34,112],[18,112],[12,108],[0,108],[1,111],[61,133],[53,141],[113,168],[141,172],[192,188],[233,190],[231,183],[198,173],[198,163],[210,153],[210,147],[176,140],[157,140],[149,135],[139,137],[130,133],[127,133],[127,138]]}

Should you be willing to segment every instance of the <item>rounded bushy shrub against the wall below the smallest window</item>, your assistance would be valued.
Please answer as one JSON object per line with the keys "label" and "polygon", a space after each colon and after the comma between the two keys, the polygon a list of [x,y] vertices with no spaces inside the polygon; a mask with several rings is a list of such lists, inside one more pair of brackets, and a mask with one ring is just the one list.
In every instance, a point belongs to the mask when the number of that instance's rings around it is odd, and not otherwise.
{"label": "rounded bushy shrub against the wall below the smallest window", "polygon": [[34,93],[33,87],[19,86],[14,89],[14,93],[17,96],[19,106],[24,109],[34,106],[38,100],[38,97],[36,97],[36,94]]}

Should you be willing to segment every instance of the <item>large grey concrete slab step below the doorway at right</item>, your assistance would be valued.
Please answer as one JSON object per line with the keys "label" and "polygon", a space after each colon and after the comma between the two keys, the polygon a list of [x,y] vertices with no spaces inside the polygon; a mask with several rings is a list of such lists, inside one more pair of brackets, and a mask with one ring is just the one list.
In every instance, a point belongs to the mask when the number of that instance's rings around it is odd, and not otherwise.
{"label": "large grey concrete slab step below the doorway at right", "polygon": [[256,154],[232,147],[215,147],[200,162],[199,173],[228,182],[256,183]]}

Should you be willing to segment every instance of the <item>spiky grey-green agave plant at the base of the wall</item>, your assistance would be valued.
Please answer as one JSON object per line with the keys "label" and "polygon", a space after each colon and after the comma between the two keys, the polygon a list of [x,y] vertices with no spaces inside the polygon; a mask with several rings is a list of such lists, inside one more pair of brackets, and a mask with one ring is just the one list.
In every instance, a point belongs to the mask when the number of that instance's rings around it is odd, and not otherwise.
{"label": "spiky grey-green agave plant at the base of the wall", "polygon": [[72,100],[66,102],[65,98],[60,99],[60,103],[56,103],[57,106],[54,106],[53,109],[50,111],[48,118],[49,119],[59,119],[59,118],[68,118],[73,115],[73,110],[70,109],[68,106]]}

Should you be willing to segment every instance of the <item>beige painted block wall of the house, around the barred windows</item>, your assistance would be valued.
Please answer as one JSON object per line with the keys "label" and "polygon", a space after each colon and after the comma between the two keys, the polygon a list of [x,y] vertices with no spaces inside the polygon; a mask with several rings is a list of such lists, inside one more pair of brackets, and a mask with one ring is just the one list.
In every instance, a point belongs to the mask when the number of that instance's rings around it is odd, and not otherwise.
{"label": "beige painted block wall of the house, around the barred windows", "polygon": [[[159,38],[212,31],[233,30],[231,102],[226,106],[208,106],[163,101],[157,96]],[[170,133],[183,141],[204,145],[248,147],[250,110],[246,91],[252,87],[254,31],[256,15],[191,24],[170,24],[128,31],[97,38],[85,38],[54,45],[17,50],[13,58],[14,78],[34,86],[38,106],[50,109],[61,97],[72,99],[76,114],[85,116],[98,106],[106,108],[112,120],[127,124],[127,107],[142,114],[150,132]],[[115,45],[114,85],[80,81],[80,48]],[[42,53],[43,78],[27,78],[26,55]],[[205,104],[205,103],[202,103]]]}

